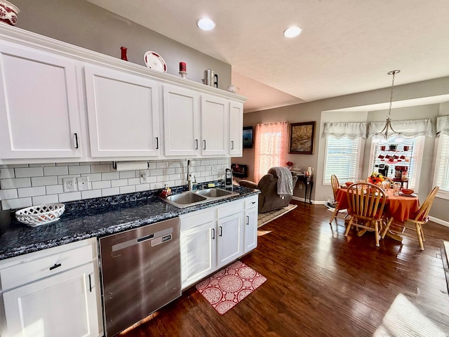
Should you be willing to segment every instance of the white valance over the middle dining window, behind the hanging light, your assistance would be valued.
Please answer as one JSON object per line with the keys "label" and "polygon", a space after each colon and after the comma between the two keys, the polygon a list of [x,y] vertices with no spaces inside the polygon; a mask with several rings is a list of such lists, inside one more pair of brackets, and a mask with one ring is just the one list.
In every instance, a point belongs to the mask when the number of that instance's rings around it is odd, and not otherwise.
{"label": "white valance over the middle dining window, behind the hanging light", "polygon": [[[371,121],[368,126],[368,138],[382,131],[385,121]],[[394,131],[401,132],[405,138],[416,136],[434,136],[434,124],[431,119],[409,119],[405,121],[391,121],[391,127]]]}

